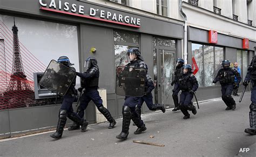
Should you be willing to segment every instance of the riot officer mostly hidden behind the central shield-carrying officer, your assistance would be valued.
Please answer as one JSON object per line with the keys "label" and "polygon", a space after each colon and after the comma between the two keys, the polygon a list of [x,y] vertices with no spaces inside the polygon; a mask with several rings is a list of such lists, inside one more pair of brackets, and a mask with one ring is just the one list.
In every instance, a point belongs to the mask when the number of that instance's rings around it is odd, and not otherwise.
{"label": "riot officer mostly hidden behind the central shield-carrying officer", "polygon": [[[146,65],[146,70],[148,70],[147,65]],[[145,93],[144,93],[143,97],[140,97],[139,103],[136,105],[136,112],[138,113],[139,118],[141,119],[140,115],[142,114],[142,105],[143,105],[144,101],[145,101],[147,107],[149,108],[149,110],[151,110],[151,111],[161,110],[163,113],[165,113],[165,107],[163,105],[153,104],[153,95],[151,92],[154,89],[154,83],[153,83],[153,80],[149,73],[146,74],[145,87],[146,87]],[[133,123],[133,125],[135,126],[136,124]]]}

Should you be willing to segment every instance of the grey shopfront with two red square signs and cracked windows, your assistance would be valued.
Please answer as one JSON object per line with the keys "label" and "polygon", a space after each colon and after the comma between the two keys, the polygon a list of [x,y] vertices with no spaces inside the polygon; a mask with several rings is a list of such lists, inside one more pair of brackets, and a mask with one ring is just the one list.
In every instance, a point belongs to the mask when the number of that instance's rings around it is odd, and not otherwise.
{"label": "grey shopfront with two red square signs and cracked windows", "polygon": [[[241,69],[242,80],[247,73],[248,64],[254,56],[256,42],[243,37],[233,37],[213,30],[203,30],[188,26],[188,63],[196,71],[199,83],[199,100],[221,97],[220,84],[212,81],[222,67],[221,62],[228,59],[231,67],[235,62]],[[239,92],[244,90],[240,85]],[[250,88],[247,88],[249,91]]]}

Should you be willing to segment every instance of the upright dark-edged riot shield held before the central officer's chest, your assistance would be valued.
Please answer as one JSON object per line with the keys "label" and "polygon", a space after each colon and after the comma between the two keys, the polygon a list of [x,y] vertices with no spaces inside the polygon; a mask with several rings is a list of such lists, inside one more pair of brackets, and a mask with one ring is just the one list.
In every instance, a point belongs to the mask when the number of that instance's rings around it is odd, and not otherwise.
{"label": "upright dark-edged riot shield held before the central officer's chest", "polygon": [[127,97],[143,97],[146,69],[118,66],[116,72],[116,94]]}

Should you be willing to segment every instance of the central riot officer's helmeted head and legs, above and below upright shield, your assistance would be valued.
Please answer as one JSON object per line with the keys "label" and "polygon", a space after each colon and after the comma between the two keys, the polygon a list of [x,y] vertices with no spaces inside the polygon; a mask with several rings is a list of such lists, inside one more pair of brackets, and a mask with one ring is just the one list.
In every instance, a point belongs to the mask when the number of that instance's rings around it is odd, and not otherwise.
{"label": "central riot officer's helmeted head and legs, above and below upright shield", "polygon": [[[143,62],[143,57],[140,54],[138,48],[133,47],[127,51],[127,55],[130,58],[130,63],[126,67],[143,67],[146,69],[146,65]],[[143,131],[146,131],[146,126],[142,119],[139,118],[138,113],[136,112],[136,105],[139,102],[139,97],[125,97],[125,103],[123,105],[123,126],[122,132],[116,136],[117,139],[126,140],[129,134],[129,126],[131,119],[138,127],[134,134],[140,134]]]}

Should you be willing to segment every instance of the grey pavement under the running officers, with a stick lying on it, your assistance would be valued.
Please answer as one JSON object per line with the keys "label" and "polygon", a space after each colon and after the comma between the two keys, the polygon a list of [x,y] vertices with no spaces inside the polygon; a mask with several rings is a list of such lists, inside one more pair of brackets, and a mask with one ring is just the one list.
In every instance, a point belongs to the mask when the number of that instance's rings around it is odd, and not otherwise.
{"label": "grey pavement under the running officers, with a stick lying on it", "polygon": [[[89,125],[84,133],[65,130],[59,140],[50,138],[53,132],[3,139],[0,156],[256,156],[256,136],[244,132],[250,126],[250,97],[250,92],[245,93],[241,103],[239,97],[234,97],[235,111],[225,111],[221,99],[200,103],[198,113],[190,112],[191,118],[187,120],[180,111],[143,115],[147,130],[135,135],[137,127],[131,123],[130,134],[124,141],[116,139],[122,130],[122,119],[117,120],[113,129],[108,129],[109,123],[105,122]],[[164,147],[137,144],[133,140]]]}

